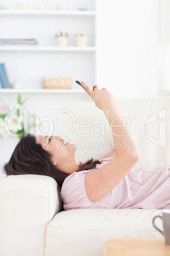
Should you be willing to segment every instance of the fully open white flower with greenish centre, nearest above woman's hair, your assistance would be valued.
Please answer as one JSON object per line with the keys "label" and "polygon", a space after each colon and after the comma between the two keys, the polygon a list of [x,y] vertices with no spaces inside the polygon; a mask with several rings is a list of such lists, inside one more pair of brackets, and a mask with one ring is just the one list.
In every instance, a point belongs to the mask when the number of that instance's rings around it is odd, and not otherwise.
{"label": "fully open white flower with greenish centre, nearest above woman's hair", "polygon": [[4,121],[6,122],[8,131],[18,132],[23,128],[23,115],[18,117],[16,113],[11,113],[10,115],[6,115]]}

